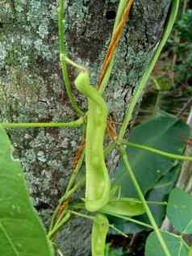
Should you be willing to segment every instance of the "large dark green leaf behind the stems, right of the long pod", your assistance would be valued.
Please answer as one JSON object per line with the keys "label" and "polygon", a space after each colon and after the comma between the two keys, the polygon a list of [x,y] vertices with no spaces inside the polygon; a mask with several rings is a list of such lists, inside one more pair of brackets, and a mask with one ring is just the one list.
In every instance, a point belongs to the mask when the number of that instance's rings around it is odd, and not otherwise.
{"label": "large dark green leaf behind the stems, right of the long pod", "polygon": [[[161,112],[133,128],[130,132],[129,141],[170,153],[182,154],[185,148],[185,143],[182,141],[183,136],[189,137],[188,126],[178,120],[177,117]],[[127,154],[144,195],[175,165],[173,160],[149,153],[144,149],[128,147]],[[120,161],[116,170],[115,185],[121,187],[123,197],[137,197],[135,187],[123,161]]]}

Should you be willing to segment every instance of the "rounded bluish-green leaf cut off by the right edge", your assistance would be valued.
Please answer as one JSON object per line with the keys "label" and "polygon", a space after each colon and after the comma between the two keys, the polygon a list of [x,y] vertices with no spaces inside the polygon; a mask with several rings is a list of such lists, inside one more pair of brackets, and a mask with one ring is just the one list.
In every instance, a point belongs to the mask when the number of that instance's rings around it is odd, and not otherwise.
{"label": "rounded bluish-green leaf cut off by the right edge", "polygon": [[192,233],[192,195],[174,188],[169,195],[167,216],[177,231]]}

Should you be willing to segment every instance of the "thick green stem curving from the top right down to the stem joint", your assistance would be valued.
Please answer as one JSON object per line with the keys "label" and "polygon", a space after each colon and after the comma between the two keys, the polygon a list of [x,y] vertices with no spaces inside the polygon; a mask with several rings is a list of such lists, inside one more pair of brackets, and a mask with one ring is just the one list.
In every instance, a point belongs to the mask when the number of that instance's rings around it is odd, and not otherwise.
{"label": "thick green stem curving from the top right down to the stem joint", "polygon": [[136,107],[136,103],[141,97],[141,94],[144,91],[144,87],[146,83],[148,82],[148,78],[150,76],[150,73],[152,73],[152,69],[154,68],[158,57],[160,56],[162,48],[165,46],[166,41],[168,40],[169,34],[172,31],[173,24],[175,22],[175,19],[177,17],[177,11],[179,6],[179,0],[172,0],[171,7],[170,7],[170,14],[169,19],[167,21],[165,31],[163,32],[163,35],[161,37],[160,42],[157,44],[157,48],[155,49],[151,61],[149,61],[147,68],[144,71],[144,75],[140,80],[139,85],[136,88],[135,94],[131,98],[131,103],[128,107],[127,113],[125,115],[125,118],[123,120],[123,125],[120,128],[119,136],[118,136],[118,144],[123,140],[123,136],[126,132],[127,125],[129,124],[131,120],[132,113],[134,111],[134,108]]}

